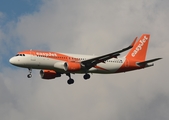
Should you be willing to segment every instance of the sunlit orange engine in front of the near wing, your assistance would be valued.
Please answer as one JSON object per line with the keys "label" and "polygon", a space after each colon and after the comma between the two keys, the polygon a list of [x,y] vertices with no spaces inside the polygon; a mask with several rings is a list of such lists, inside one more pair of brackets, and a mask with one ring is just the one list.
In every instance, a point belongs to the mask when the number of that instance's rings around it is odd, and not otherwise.
{"label": "sunlit orange engine in front of the near wing", "polygon": [[78,62],[65,62],[65,71],[77,71],[82,68],[81,64]]}

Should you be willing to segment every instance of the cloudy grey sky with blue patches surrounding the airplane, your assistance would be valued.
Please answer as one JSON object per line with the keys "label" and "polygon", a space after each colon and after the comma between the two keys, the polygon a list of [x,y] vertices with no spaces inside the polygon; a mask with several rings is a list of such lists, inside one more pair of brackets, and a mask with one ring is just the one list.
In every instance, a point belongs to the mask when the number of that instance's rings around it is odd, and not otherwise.
{"label": "cloudy grey sky with blue patches surrounding the airplane", "polygon": [[[168,0],[5,0],[0,4],[1,120],[168,120]],[[149,33],[155,66],[84,81],[42,80],[9,64],[25,49],[103,55]],[[123,54],[125,55],[125,53]]]}

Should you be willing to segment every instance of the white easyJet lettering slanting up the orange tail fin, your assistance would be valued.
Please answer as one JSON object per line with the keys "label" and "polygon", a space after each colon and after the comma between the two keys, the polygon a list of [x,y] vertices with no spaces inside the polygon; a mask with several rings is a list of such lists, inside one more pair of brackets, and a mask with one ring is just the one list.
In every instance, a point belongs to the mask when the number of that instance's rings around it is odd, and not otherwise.
{"label": "white easyJet lettering slanting up the orange tail fin", "polygon": [[146,41],[148,40],[147,36],[144,36],[144,38],[142,40],[139,41],[138,46],[136,47],[136,49],[132,52],[131,56],[135,57],[137,55],[137,53],[142,50],[142,47],[144,46],[144,44],[146,43]]}

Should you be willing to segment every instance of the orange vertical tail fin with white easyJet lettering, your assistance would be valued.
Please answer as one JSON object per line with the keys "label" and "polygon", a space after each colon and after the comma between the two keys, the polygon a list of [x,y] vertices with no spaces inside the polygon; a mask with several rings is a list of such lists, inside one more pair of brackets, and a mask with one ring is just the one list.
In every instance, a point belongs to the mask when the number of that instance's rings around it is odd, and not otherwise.
{"label": "orange vertical tail fin with white easyJet lettering", "polygon": [[150,35],[143,34],[129,51],[126,58],[134,59],[140,62],[145,61],[149,40]]}

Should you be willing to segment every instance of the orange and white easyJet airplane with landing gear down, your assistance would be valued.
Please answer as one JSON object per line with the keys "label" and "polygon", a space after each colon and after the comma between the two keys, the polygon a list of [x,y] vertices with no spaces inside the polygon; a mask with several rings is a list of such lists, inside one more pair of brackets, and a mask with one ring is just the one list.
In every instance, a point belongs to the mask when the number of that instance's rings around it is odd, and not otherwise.
{"label": "orange and white easyJet airplane with landing gear down", "polygon": [[[150,34],[142,34],[139,40],[136,37],[128,47],[101,56],[25,50],[10,58],[9,62],[17,67],[28,68],[28,78],[32,77],[32,69],[40,69],[42,79],[55,79],[66,74],[69,77],[67,83],[73,84],[71,74],[84,74],[83,78],[87,80],[93,73],[121,73],[154,66],[152,62],[162,58],[145,60],[149,40]],[[129,49],[127,55],[119,57],[120,53]]]}

